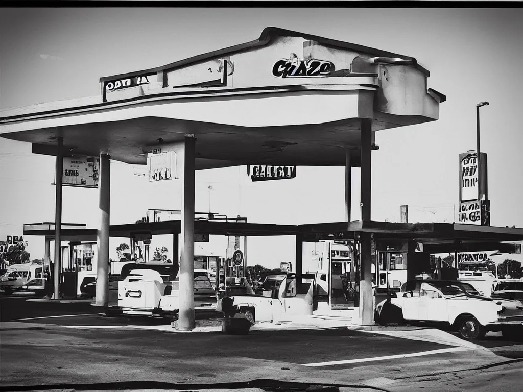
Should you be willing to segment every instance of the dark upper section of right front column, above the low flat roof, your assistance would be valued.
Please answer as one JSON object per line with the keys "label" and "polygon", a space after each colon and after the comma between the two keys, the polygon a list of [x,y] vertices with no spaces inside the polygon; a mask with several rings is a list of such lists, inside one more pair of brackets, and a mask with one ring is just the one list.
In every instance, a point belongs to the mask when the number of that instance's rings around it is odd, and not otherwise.
{"label": "dark upper section of right front column, above the low flat roof", "polygon": [[[361,119],[361,189],[360,207],[361,220],[370,221],[370,188],[371,188],[371,152],[372,152],[372,120]],[[363,253],[363,251],[362,251]]]}

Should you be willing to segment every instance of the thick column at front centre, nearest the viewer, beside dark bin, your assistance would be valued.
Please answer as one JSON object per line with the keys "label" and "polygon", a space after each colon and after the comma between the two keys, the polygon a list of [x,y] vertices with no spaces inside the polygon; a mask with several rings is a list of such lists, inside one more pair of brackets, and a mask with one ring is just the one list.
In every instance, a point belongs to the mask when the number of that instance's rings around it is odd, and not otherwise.
{"label": "thick column at front centre, nearest the viewer, beside dark bin", "polygon": [[194,225],[195,225],[195,145],[194,137],[185,137],[183,153],[184,190],[181,196],[181,252],[178,329],[195,328],[194,302]]}

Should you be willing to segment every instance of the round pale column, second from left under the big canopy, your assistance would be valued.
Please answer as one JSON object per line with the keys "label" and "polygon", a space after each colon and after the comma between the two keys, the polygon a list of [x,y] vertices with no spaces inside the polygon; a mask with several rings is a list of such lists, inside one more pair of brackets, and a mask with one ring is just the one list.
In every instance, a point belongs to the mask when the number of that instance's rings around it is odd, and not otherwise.
{"label": "round pale column, second from left under the big canopy", "polygon": [[109,303],[109,211],[111,195],[111,159],[100,154],[100,176],[98,181],[98,270],[96,279],[96,306]]}

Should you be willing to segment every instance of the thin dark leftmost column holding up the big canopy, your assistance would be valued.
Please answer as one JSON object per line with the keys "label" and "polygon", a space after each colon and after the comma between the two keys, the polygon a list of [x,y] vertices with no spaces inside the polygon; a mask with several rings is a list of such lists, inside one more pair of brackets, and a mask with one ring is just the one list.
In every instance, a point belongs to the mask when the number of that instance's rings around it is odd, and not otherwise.
{"label": "thin dark leftmost column holding up the big canopy", "polygon": [[63,137],[58,138],[56,152],[56,197],[54,205],[54,299],[60,298],[60,281],[62,278],[62,176],[63,176]]}

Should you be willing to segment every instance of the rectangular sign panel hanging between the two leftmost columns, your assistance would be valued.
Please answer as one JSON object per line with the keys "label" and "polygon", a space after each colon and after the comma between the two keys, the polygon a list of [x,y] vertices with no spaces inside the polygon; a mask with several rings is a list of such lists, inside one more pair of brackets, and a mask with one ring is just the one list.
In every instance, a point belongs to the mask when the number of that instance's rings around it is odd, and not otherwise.
{"label": "rectangular sign panel hanging between the two leftmost columns", "polygon": [[64,187],[98,188],[99,172],[99,157],[63,157],[62,185]]}

